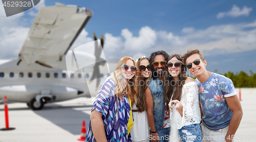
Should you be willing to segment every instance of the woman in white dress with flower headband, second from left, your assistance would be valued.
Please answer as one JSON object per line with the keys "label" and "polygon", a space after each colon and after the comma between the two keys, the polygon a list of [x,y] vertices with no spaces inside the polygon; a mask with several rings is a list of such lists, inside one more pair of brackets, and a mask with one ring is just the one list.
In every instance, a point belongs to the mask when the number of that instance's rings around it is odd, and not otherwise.
{"label": "woman in white dress with flower headband, second from left", "polygon": [[146,142],[150,141],[150,126],[147,122],[145,90],[150,83],[152,66],[146,56],[140,56],[137,60],[137,66],[140,70],[138,77],[138,97],[133,105],[134,125],[131,130],[132,141]]}

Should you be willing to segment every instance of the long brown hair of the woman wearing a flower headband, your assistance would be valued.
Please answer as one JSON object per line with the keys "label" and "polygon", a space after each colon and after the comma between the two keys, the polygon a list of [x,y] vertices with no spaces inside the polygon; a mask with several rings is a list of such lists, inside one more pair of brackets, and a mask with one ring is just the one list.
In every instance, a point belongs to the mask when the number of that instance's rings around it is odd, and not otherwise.
{"label": "long brown hair of the woman wearing a flower headband", "polygon": [[[148,60],[148,59],[144,58],[144,59],[139,60],[137,62],[138,67],[140,66],[140,62],[142,60]],[[149,62],[149,60],[148,60],[148,62]],[[140,68],[139,68],[139,70],[140,70]],[[148,78],[142,79],[141,74],[138,77],[139,87],[138,87],[138,97],[137,97],[136,107],[137,107],[139,112],[143,112],[144,110],[147,109],[146,108],[145,90],[148,87],[148,84],[150,83],[151,75],[152,75],[152,72],[150,73],[150,77],[148,77]],[[141,82],[143,82],[143,84],[141,84]]]}

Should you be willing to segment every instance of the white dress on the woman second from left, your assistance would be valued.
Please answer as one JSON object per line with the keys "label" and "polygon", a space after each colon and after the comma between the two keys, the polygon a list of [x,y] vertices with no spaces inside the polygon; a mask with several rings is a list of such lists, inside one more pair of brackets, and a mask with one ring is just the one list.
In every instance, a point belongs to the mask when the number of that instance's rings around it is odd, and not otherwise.
{"label": "white dress on the woman second from left", "polygon": [[[136,104],[133,105],[133,110],[137,110]],[[143,112],[133,112],[133,128],[131,129],[132,141],[150,141],[150,125],[147,122],[146,110]]]}

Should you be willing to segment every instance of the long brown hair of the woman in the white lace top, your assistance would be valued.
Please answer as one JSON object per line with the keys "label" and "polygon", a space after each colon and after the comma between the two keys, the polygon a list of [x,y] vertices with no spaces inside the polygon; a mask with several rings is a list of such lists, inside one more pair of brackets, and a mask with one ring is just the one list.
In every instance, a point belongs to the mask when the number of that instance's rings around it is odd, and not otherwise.
{"label": "long brown hair of the woman in the white lace top", "polygon": [[[182,61],[182,56],[180,54],[172,54],[169,56],[167,59],[167,62],[172,59],[173,57],[176,57],[179,61]],[[182,87],[185,83],[185,80],[187,79],[186,76],[186,71],[187,68],[185,65],[182,63],[181,64],[181,72],[178,76],[177,82],[175,81],[174,77],[172,77],[169,72],[167,66],[165,66],[165,69],[167,72],[164,73],[164,82],[165,82],[165,87],[164,87],[164,97],[166,100],[166,107],[168,108],[168,104],[170,102],[171,97],[173,96],[172,100],[179,100],[181,99],[181,93],[182,93]],[[175,90],[176,88],[176,90]],[[168,114],[169,114],[169,109]]]}

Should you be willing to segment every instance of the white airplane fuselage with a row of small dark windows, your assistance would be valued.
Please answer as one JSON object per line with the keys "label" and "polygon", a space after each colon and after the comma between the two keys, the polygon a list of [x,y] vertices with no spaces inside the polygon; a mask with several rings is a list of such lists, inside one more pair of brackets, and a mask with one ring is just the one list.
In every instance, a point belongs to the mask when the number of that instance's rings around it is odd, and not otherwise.
{"label": "white airplane fuselage with a row of small dark windows", "polygon": [[[87,84],[71,82],[66,70],[39,64],[26,66],[22,62],[16,65],[17,62],[0,64],[0,98],[7,96],[9,101],[29,103],[38,94],[51,94],[50,102],[90,97]],[[83,75],[75,73],[71,78],[83,78]]]}

